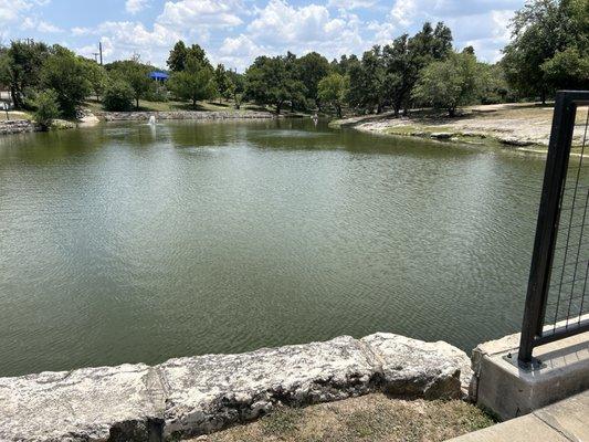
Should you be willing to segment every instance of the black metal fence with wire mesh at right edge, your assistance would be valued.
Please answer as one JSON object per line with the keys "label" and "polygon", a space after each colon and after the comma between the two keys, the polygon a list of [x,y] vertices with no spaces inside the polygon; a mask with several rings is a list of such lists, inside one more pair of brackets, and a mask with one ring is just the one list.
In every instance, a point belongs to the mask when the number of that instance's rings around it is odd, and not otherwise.
{"label": "black metal fence with wire mesh at right edge", "polygon": [[[589,92],[557,93],[518,362],[534,347],[589,330]],[[549,325],[547,325],[549,324]]]}

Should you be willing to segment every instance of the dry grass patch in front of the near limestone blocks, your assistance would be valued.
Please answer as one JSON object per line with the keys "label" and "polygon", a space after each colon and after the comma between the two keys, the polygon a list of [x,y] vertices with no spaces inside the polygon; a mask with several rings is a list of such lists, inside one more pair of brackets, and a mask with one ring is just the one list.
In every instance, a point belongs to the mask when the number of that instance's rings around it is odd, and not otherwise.
{"label": "dry grass patch in front of the near limestone blocks", "polygon": [[375,393],[304,409],[282,408],[256,422],[192,442],[435,442],[493,423],[460,400],[401,400]]}

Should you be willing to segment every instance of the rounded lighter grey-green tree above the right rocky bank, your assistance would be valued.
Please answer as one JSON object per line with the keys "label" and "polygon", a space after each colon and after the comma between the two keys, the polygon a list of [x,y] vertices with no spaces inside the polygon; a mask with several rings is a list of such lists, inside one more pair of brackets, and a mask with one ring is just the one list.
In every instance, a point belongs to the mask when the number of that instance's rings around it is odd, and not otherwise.
{"label": "rounded lighter grey-green tree above the right rocky bank", "polygon": [[459,106],[474,103],[481,93],[481,72],[474,55],[451,53],[425,66],[412,97],[424,105],[445,108],[453,117]]}

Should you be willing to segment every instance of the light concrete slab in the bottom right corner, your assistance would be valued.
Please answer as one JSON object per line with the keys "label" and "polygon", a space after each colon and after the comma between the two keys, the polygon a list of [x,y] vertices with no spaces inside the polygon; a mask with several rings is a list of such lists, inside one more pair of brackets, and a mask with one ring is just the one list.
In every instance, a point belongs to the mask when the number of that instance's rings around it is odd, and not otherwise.
{"label": "light concrete slab in the bottom right corner", "polygon": [[448,442],[589,441],[589,390],[522,418]]}

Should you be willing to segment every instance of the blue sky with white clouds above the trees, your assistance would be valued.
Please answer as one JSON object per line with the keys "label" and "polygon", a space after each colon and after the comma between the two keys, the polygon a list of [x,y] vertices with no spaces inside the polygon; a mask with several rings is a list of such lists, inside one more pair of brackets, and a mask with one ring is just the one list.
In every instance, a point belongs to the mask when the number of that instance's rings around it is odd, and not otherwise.
{"label": "blue sky with white clouds above the trees", "polygon": [[0,0],[0,39],[33,38],[105,61],[138,53],[165,66],[179,39],[243,71],[260,54],[318,51],[328,59],[444,21],[454,45],[493,62],[524,0]]}

